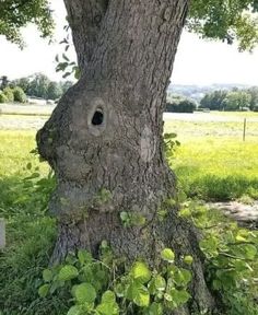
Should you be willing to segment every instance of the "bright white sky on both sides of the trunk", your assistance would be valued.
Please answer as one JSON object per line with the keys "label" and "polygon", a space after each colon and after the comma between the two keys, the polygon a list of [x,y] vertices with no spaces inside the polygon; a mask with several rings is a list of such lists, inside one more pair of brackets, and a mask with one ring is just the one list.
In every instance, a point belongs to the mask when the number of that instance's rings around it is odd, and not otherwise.
{"label": "bright white sky on both sides of the trunk", "polygon": [[[56,21],[55,43],[39,37],[33,25],[23,30],[26,47],[20,48],[0,36],[0,75],[10,79],[43,72],[51,80],[61,80],[55,72],[55,57],[63,52],[66,10],[62,0],[52,0]],[[70,58],[75,60],[73,48]],[[258,48],[253,52],[238,52],[236,45],[200,39],[196,34],[183,33],[172,74],[174,84],[209,85],[213,83],[238,83],[258,85]]]}

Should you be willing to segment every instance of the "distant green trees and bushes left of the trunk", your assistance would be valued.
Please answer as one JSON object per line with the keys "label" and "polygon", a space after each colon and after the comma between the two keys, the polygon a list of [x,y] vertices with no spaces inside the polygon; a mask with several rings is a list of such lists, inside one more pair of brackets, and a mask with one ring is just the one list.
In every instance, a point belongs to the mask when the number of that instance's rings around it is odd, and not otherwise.
{"label": "distant green trees and bushes left of the trunk", "polygon": [[50,81],[43,73],[10,81],[7,75],[0,78],[0,103],[25,103],[27,96],[56,101],[72,85],[71,81]]}

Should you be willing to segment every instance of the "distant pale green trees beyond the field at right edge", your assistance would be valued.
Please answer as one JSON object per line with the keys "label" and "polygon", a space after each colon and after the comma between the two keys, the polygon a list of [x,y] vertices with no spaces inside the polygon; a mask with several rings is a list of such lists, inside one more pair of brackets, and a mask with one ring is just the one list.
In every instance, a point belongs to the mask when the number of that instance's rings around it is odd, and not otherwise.
{"label": "distant pale green trees beyond the field at right edge", "polygon": [[201,108],[211,110],[254,110],[258,112],[258,88],[232,91],[214,91],[200,101]]}

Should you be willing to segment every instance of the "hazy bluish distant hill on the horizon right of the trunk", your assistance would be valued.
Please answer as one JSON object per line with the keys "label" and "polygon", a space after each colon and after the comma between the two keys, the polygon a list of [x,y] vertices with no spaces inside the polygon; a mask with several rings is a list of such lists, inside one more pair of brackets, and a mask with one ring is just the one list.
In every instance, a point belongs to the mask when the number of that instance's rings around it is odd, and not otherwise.
{"label": "hazy bluish distant hill on the horizon right of the trunk", "polygon": [[211,85],[184,85],[184,84],[171,84],[168,86],[168,94],[173,93],[173,94],[180,94],[180,95],[185,95],[187,97],[194,98],[197,102],[199,102],[204,94],[210,93],[212,91],[215,90],[225,90],[225,91],[230,91],[234,88],[237,89],[248,89],[250,86],[254,85],[247,85],[247,84],[211,84]]}

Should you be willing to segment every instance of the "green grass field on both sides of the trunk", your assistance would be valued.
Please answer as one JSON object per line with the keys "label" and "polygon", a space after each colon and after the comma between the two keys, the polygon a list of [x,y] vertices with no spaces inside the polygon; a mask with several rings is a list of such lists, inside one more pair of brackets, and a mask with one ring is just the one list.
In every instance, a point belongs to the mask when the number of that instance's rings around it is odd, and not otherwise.
{"label": "green grass field on both sides of the trunk", "polygon": [[[242,129],[243,122],[165,124],[165,131],[176,132],[181,143],[172,165],[188,197],[258,199],[258,122],[248,124],[245,142]],[[55,307],[60,314],[66,311],[62,301],[54,299],[45,305],[37,294],[56,223],[47,214],[55,180],[48,166],[30,153],[36,145],[34,138],[35,131],[0,130],[0,218],[7,221],[7,248],[0,252],[1,315],[54,314]]]}

